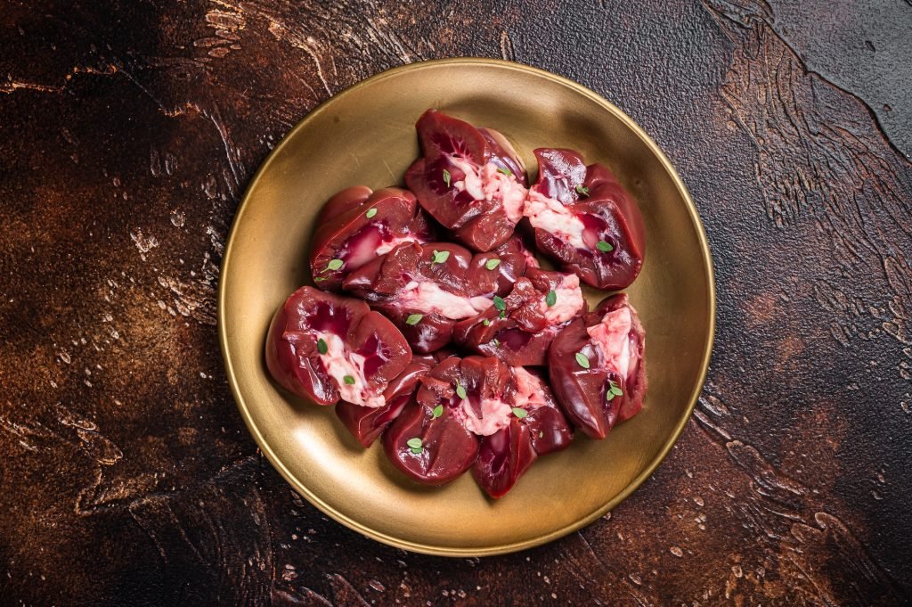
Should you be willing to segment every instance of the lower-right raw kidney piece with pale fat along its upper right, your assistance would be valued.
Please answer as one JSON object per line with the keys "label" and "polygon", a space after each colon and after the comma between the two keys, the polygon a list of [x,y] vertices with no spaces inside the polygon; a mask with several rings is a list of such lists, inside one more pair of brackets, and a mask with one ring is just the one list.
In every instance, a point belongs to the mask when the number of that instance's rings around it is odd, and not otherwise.
{"label": "lower-right raw kidney piece with pale fat along its upper right", "polygon": [[643,407],[646,334],[627,295],[575,319],[548,351],[551,386],[567,417],[593,438]]}

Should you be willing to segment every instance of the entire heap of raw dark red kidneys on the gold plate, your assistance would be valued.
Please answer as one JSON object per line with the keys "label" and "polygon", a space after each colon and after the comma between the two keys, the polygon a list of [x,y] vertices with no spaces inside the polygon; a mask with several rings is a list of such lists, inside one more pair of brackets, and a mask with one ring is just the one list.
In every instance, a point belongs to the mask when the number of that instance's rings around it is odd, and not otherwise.
{"label": "entire heap of raw dark red kidneys on the gold plate", "polygon": [[[637,312],[623,294],[586,311],[580,280],[633,282],[643,220],[617,177],[577,152],[535,150],[528,188],[501,133],[437,110],[416,127],[411,192],[356,186],[321,209],[316,288],[276,311],[266,364],[286,389],[337,403],[358,442],[381,438],[407,476],[442,485],[472,468],[499,498],[539,456],[570,445],[574,426],[604,438],[642,408]],[[515,234],[523,218],[565,271],[539,267]],[[440,225],[470,248],[434,242]],[[359,299],[326,292],[340,289]],[[459,358],[451,341],[480,355]],[[551,385],[534,370],[545,364]]]}

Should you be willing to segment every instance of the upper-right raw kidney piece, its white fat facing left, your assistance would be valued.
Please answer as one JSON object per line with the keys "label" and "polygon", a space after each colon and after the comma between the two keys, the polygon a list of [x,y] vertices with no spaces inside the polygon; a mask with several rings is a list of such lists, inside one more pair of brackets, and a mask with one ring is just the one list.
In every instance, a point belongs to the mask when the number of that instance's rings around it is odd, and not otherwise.
{"label": "upper-right raw kidney piece, its white fat facing left", "polygon": [[586,166],[573,150],[539,148],[538,179],[523,215],[538,250],[596,288],[627,288],[646,252],[643,217],[603,164]]}

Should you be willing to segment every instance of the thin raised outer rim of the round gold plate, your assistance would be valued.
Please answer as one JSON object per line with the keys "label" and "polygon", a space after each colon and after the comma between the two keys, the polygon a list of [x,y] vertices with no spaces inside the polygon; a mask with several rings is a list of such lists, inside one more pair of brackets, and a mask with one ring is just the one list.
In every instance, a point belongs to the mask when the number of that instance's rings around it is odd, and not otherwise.
{"label": "thin raised outer rim of the round gold plate", "polygon": [[[407,539],[401,539],[394,536],[391,536],[386,533],[382,533],[376,529],[371,529],[367,525],[364,525],[358,520],[347,517],[347,515],[339,512],[336,508],[332,508],[325,501],[316,496],[309,488],[306,487],[297,477],[292,474],[292,472],[285,466],[282,460],[275,455],[275,452],[270,447],[268,441],[265,440],[264,435],[254,423],[253,416],[248,408],[247,403],[244,401],[244,395],[241,393],[240,386],[238,385],[237,378],[235,376],[233,363],[231,360],[231,352],[229,351],[228,345],[228,335],[225,330],[226,319],[225,319],[225,298],[226,291],[224,277],[228,276],[227,269],[231,263],[232,259],[232,250],[234,242],[234,234],[238,230],[238,226],[241,224],[241,221],[244,217],[244,211],[249,208],[249,202],[251,200],[251,193],[256,189],[257,183],[260,181],[260,178],[267,171],[268,167],[272,162],[275,161],[275,158],[279,156],[279,152],[285,147],[288,141],[291,141],[295,134],[298,131],[303,131],[308,123],[311,120],[314,120],[318,114],[326,110],[327,105],[333,100],[337,99],[340,96],[347,95],[348,93],[368,87],[371,84],[378,82],[379,80],[391,78],[398,76],[400,73],[420,70],[425,68],[433,68],[437,66],[498,66],[501,68],[514,69],[520,72],[526,72],[538,76],[540,78],[546,78],[552,80],[554,83],[562,85],[567,89],[571,89],[581,95],[584,95],[586,98],[591,99],[596,102],[599,106],[605,110],[614,114],[617,120],[620,120],[627,126],[627,128],[637,135],[637,137],[647,146],[649,152],[652,152],[658,161],[661,163],[664,170],[671,177],[672,182],[675,184],[675,187],[679,191],[682,199],[684,200],[688,215],[690,218],[690,223],[695,229],[695,233],[700,241],[700,253],[705,259],[706,263],[703,265],[702,270],[705,274],[706,285],[708,293],[707,299],[710,304],[709,309],[709,340],[706,342],[706,348],[702,353],[702,361],[700,361],[700,375],[698,382],[696,382],[693,391],[691,392],[688,404],[685,409],[685,414],[681,415],[679,423],[675,426],[671,434],[668,434],[668,439],[665,441],[665,444],[662,445],[662,449],[659,451],[658,455],[653,458],[651,462],[648,463],[643,471],[636,476],[620,493],[612,497],[604,505],[599,508],[596,508],[592,513],[584,518],[579,518],[573,523],[565,525],[562,528],[554,529],[548,533],[536,536],[530,539],[523,539],[522,541],[513,542],[509,544],[503,544],[498,546],[491,546],[487,548],[450,548],[450,547],[440,547],[433,546],[430,544],[422,544],[419,542],[412,542]],[[507,61],[505,59],[498,58],[478,58],[478,57],[466,57],[466,58],[440,58],[440,59],[429,59],[426,61],[419,61],[415,63],[406,64],[396,68],[390,68],[388,70],[379,72],[374,76],[365,78],[364,80],[359,81],[358,83],[339,91],[335,95],[331,96],[329,99],[326,99],[320,103],[314,110],[311,110],[306,114],[306,116],[295,124],[294,128],[291,131],[288,131],[285,134],[285,137],[282,138],[282,141],[279,141],[278,145],[269,153],[264,162],[254,173],[253,179],[247,185],[246,190],[244,191],[244,197],[241,200],[241,204],[238,205],[237,212],[234,215],[232,222],[231,232],[228,235],[228,241],[225,245],[224,255],[222,257],[222,264],[219,270],[219,287],[218,287],[218,332],[219,332],[219,346],[222,350],[222,358],[225,367],[225,376],[228,380],[229,385],[231,386],[232,395],[234,402],[237,404],[238,410],[241,412],[241,416],[244,419],[244,424],[247,426],[247,430],[250,434],[253,435],[256,445],[263,451],[266,459],[269,460],[269,463],[279,472],[281,476],[285,478],[285,481],[291,485],[295,491],[301,496],[305,497],[307,501],[316,506],[321,512],[327,516],[337,520],[337,522],[345,525],[348,529],[353,529],[361,533],[362,535],[375,539],[394,548],[407,549],[412,552],[420,552],[422,554],[430,554],[434,556],[444,556],[444,557],[484,557],[484,556],[493,556],[498,554],[508,554],[511,552],[517,552],[523,549],[534,548],[535,546],[541,546],[555,539],[564,537],[569,533],[573,533],[577,529],[582,529],[587,525],[596,521],[596,519],[605,516],[605,514],[611,511],[613,508],[617,507],[618,504],[623,502],[627,497],[630,496],[634,491],[637,490],[645,481],[651,476],[658,466],[665,460],[668,456],[668,453],[671,451],[671,448],[678,442],[680,434],[684,431],[684,427],[689,422],[690,416],[693,413],[693,409],[697,404],[698,399],[700,398],[700,392],[702,392],[703,384],[706,382],[707,373],[709,372],[710,367],[710,357],[712,355],[712,346],[715,340],[716,334],[716,288],[715,288],[715,272],[712,264],[712,255],[710,253],[709,240],[706,236],[706,231],[703,227],[703,223],[700,220],[700,213],[697,210],[696,204],[694,204],[693,199],[690,197],[687,186],[684,185],[684,182],[681,180],[678,172],[675,170],[674,166],[668,161],[668,158],[665,156],[665,153],[661,151],[655,141],[648,136],[646,131],[643,131],[642,128],[629,116],[627,116],[624,111],[617,108],[616,105],[603,98],[601,95],[596,93],[592,89],[588,89],[583,85],[562,76],[558,76],[549,71],[540,68],[534,68],[532,66],[527,66],[521,63],[516,63],[513,61]]]}

